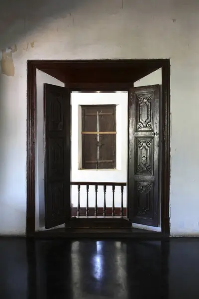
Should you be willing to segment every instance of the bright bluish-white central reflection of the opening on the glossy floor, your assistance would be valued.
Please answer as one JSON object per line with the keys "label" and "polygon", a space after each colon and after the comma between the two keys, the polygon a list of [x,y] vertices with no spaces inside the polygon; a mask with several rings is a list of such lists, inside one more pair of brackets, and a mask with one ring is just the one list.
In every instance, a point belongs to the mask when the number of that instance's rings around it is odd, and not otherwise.
{"label": "bright bluish-white central reflection of the opening on the glossy floor", "polygon": [[120,242],[81,241],[72,254],[74,298],[126,296],[125,251]]}

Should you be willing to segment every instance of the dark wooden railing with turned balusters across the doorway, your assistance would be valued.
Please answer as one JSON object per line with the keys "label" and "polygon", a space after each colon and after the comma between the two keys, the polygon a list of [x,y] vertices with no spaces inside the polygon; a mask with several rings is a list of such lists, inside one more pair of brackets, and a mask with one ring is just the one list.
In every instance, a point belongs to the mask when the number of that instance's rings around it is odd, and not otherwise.
{"label": "dark wooden railing with turned balusters across the doorway", "polygon": [[[102,216],[118,216],[118,208],[117,212],[115,213],[115,186],[120,186],[120,193],[121,193],[121,205],[120,205],[120,211],[119,211],[119,216],[123,217],[126,215],[126,208],[124,208],[123,205],[123,192],[124,192],[124,186],[126,186],[126,183],[110,183],[110,182],[71,182],[71,185],[77,185],[78,187],[78,206],[77,206],[77,212],[76,215],[74,215],[72,211],[72,216],[77,216],[80,217],[82,216],[82,210],[80,206],[80,193],[81,193],[81,186],[86,186],[86,198],[87,198],[87,203],[86,203],[86,216],[89,217],[90,215],[90,207],[89,207],[89,187],[90,186],[95,186],[95,208],[94,208],[94,216],[99,216],[101,214]],[[103,186],[103,208],[102,211],[99,213],[99,208],[98,208],[98,187]],[[112,186],[112,207],[111,207],[111,212],[109,211],[109,208],[106,207],[106,187],[107,186]],[[72,208],[73,209],[73,208]],[[85,209],[85,208],[82,208]],[[125,211],[124,211],[125,209]],[[100,208],[101,210],[101,208]],[[91,213],[93,214],[93,213]],[[93,215],[92,215],[93,216]]]}

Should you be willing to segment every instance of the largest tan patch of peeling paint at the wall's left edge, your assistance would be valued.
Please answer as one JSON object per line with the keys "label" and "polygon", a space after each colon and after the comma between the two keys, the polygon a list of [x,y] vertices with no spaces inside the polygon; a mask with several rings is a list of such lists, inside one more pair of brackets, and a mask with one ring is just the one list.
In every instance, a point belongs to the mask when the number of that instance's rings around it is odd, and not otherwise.
{"label": "largest tan patch of peeling paint at the wall's left edge", "polygon": [[6,76],[14,76],[14,63],[12,53],[17,51],[17,46],[9,47],[8,49],[1,50],[1,73]]}

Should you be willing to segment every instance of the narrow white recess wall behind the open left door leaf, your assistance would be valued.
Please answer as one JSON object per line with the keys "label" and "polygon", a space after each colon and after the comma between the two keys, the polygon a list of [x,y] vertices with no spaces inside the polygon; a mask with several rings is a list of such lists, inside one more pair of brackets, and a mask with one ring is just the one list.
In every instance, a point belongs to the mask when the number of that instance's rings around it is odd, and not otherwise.
{"label": "narrow white recess wall behind the open left door leaf", "polygon": [[36,70],[36,144],[35,144],[35,230],[45,229],[44,202],[44,83],[63,86],[64,83]]}

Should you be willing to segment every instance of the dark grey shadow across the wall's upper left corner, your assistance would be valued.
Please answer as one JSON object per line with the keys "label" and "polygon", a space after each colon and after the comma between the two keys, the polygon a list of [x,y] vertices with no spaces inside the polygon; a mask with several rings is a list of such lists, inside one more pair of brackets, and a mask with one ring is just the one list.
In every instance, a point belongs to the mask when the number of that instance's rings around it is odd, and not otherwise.
{"label": "dark grey shadow across the wall's upper left corner", "polygon": [[66,17],[74,8],[86,5],[89,1],[63,0],[10,0],[1,1],[0,9],[0,47],[8,48],[26,38],[37,27],[42,26],[46,18]]}

